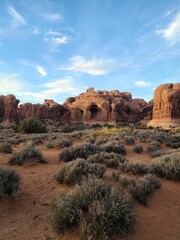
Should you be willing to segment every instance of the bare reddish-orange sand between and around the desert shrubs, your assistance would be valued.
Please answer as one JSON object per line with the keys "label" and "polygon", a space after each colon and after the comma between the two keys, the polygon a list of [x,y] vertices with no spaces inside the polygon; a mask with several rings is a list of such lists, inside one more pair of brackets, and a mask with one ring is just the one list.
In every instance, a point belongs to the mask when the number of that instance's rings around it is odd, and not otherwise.
{"label": "bare reddish-orange sand between and around the desert shrubs", "polygon": [[[143,143],[144,144],[144,143]],[[143,145],[141,144],[141,145]],[[76,233],[57,236],[49,224],[52,199],[69,190],[55,182],[53,176],[64,165],[58,160],[58,149],[38,148],[49,164],[13,166],[22,176],[22,186],[14,197],[0,201],[0,240],[78,240]],[[127,159],[150,162],[146,153],[133,153],[128,146]],[[0,165],[7,165],[8,154],[0,154]],[[105,179],[110,179],[108,169]],[[136,232],[128,240],[179,240],[180,239],[180,183],[161,179],[162,189],[156,192],[148,207],[136,204]]]}

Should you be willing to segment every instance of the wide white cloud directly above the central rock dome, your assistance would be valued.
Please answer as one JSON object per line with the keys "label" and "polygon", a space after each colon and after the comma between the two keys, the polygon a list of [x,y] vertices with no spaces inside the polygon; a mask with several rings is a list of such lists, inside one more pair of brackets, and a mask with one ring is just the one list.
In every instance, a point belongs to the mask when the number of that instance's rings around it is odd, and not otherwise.
{"label": "wide white cloud directly above the central rock dome", "polygon": [[82,56],[75,56],[70,59],[69,67],[61,67],[61,70],[82,72],[91,75],[105,75],[111,71],[113,59],[96,59],[95,57],[87,60]]}

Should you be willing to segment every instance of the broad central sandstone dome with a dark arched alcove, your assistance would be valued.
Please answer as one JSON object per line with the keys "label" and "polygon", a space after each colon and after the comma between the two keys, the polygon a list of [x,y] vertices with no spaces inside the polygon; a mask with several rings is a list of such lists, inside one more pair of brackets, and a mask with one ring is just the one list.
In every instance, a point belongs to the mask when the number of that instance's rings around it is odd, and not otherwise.
{"label": "broad central sandstone dome with a dark arched alcove", "polygon": [[[65,105],[71,111],[71,121],[87,123],[131,123],[148,115],[145,111],[148,104],[143,99],[132,99],[130,93],[117,90],[108,92],[89,88],[76,98],[68,98]],[[149,104],[151,110],[152,104]]]}

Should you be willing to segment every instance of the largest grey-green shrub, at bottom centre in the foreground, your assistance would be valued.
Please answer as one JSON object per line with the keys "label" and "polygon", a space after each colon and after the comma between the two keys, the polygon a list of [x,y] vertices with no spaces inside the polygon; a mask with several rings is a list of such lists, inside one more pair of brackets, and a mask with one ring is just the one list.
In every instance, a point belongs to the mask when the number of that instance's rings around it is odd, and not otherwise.
{"label": "largest grey-green shrub, at bottom centre in the foreground", "polygon": [[126,195],[93,177],[53,202],[51,220],[57,232],[80,226],[84,239],[109,239],[131,233],[135,213]]}

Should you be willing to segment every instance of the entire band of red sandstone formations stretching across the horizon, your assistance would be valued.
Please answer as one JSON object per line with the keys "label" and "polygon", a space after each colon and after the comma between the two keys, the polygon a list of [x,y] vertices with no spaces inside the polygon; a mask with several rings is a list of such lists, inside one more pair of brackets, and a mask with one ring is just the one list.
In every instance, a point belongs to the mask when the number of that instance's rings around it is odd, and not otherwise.
{"label": "entire band of red sandstone formations stretching across the horizon", "polygon": [[[143,121],[152,126],[180,125],[180,84],[163,84],[153,101],[133,99],[131,93],[94,91],[87,89],[77,97],[67,98],[64,104],[45,99],[43,104],[25,103],[13,95],[0,96],[1,125],[15,125],[17,119],[37,117],[57,121],[116,124]],[[152,119],[152,120],[151,120]]]}

